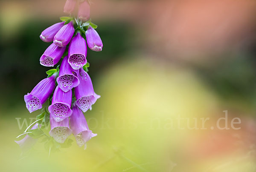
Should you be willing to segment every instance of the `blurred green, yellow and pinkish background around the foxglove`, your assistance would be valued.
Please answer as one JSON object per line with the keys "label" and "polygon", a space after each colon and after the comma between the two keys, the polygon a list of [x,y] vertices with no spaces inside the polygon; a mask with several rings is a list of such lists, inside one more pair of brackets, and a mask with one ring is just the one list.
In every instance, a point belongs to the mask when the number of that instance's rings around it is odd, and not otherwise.
{"label": "blurred green, yellow and pinkish background around the foxglove", "polygon": [[[256,3],[251,0],[92,0],[104,48],[88,51],[102,97],[85,113],[98,136],[27,156],[15,137],[30,122],[23,95],[47,75],[39,35],[65,0],[0,1],[0,171],[255,172]],[[210,129],[228,110],[239,130]],[[210,118],[207,129],[176,119]],[[181,123],[186,126],[186,120]],[[73,136],[70,136],[74,140]],[[18,139],[17,139],[18,140]]]}

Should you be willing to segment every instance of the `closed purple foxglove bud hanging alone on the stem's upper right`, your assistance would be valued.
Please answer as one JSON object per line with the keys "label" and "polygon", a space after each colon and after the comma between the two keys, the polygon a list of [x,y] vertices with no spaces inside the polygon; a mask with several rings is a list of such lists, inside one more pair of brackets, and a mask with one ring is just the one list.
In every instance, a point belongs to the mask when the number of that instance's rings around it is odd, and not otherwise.
{"label": "closed purple foxglove bud hanging alone on the stem's upper right", "polygon": [[89,26],[89,28],[85,32],[85,35],[87,45],[91,50],[96,52],[102,51],[102,40],[100,39],[98,32],[96,32],[96,30],[93,29],[92,26]]}

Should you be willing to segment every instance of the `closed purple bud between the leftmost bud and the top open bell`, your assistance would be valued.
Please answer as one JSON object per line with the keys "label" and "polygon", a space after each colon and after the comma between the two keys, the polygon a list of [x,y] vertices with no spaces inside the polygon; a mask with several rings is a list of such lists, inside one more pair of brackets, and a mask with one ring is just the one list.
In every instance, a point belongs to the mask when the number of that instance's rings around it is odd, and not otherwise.
{"label": "closed purple bud between the leftmost bud and the top open bell", "polygon": [[73,22],[64,25],[58,32],[55,34],[55,37],[53,38],[53,43],[57,46],[67,46],[67,44],[70,42],[70,40],[73,37],[73,34],[75,32]]}

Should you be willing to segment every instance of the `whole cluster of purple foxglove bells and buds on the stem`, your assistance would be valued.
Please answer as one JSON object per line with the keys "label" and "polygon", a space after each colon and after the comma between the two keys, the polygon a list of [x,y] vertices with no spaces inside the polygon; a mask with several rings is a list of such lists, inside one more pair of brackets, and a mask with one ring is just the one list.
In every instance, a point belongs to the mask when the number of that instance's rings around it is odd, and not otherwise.
{"label": "whole cluster of purple foxglove bells and buds on the stem", "polygon": [[[71,14],[74,5],[76,0],[67,0],[64,11]],[[90,10],[89,12],[82,10],[88,9],[88,6],[87,0],[80,3],[79,18],[81,20],[88,20]],[[77,144],[82,146],[96,136],[88,128],[83,112],[91,109],[100,97],[94,92],[90,76],[83,68],[87,64],[87,46],[99,52],[102,51],[103,44],[92,26],[88,25],[85,32],[80,32],[79,29],[74,29],[76,22],[73,23],[73,21],[72,18],[68,22],[56,23],[41,33],[41,40],[53,43],[41,56],[40,64],[52,67],[62,59],[61,66],[59,70],[55,70],[41,80],[30,93],[24,96],[24,100],[30,113],[42,109],[43,104],[49,100],[51,102],[48,107],[51,126],[49,135],[56,142],[64,143],[73,133]],[[81,25],[78,25],[78,28],[80,27]],[[35,126],[32,129],[38,128],[38,123]],[[24,139],[17,143],[23,143]]]}

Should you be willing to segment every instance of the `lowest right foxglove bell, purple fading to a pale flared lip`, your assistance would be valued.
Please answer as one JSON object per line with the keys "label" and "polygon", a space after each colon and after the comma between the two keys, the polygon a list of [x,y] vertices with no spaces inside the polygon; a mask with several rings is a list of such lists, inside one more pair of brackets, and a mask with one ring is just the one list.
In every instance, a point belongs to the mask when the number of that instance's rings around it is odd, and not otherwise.
{"label": "lowest right foxglove bell, purple fading to a pale flared lip", "polygon": [[76,143],[80,147],[97,135],[89,129],[83,112],[76,105],[73,106],[73,114],[70,117],[70,127],[73,135],[76,137]]}

